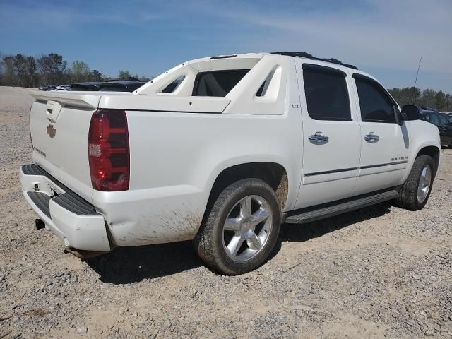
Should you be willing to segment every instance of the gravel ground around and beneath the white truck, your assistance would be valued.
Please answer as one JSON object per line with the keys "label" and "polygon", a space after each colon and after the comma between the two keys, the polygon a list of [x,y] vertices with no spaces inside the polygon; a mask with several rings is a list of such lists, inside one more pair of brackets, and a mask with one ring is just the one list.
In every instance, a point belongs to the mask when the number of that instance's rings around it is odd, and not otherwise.
{"label": "gravel ground around and beneath the white truck", "polygon": [[423,210],[284,225],[246,275],[211,272],[190,242],[82,262],[20,193],[27,93],[0,88],[0,338],[452,338],[452,150]]}

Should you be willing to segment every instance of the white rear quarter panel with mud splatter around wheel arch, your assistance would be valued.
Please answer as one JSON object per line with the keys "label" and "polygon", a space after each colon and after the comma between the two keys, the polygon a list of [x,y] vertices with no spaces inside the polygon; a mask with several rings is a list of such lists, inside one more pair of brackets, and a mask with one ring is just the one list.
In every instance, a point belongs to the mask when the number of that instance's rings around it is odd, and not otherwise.
{"label": "white rear quarter panel with mud splatter around wheel arch", "polygon": [[276,162],[287,171],[285,209],[301,173],[301,117],[128,111],[131,182],[125,192],[94,191],[119,246],[193,239],[210,189],[227,167]]}

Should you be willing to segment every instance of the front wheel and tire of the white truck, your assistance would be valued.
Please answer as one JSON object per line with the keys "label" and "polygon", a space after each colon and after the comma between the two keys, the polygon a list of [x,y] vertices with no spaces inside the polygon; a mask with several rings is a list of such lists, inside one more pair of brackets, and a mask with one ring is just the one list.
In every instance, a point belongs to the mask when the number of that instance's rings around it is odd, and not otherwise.
{"label": "front wheel and tire of the white truck", "polygon": [[416,158],[408,179],[397,197],[397,204],[407,210],[422,210],[429,200],[435,174],[435,165],[429,155]]}

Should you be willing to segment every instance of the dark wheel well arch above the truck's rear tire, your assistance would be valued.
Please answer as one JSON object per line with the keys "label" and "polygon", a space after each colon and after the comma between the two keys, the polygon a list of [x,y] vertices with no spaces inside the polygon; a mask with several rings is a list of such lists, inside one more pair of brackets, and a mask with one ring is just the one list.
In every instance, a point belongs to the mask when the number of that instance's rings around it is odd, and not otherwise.
{"label": "dark wheel well arch above the truck's rear tire", "polygon": [[247,164],[235,165],[223,170],[215,179],[206,210],[210,210],[220,193],[230,184],[240,179],[261,179],[271,186],[275,191],[280,208],[283,210],[287,201],[288,180],[287,172],[283,166],[275,162],[249,162]]}

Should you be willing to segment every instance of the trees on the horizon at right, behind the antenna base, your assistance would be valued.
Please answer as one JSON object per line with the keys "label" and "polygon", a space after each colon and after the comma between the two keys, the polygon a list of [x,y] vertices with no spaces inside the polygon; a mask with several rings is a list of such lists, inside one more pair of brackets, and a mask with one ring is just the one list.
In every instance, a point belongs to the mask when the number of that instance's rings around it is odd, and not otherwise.
{"label": "trees on the horizon at right, behind the antenna base", "polygon": [[432,107],[441,111],[452,111],[452,95],[442,90],[421,90],[417,87],[391,88],[389,93],[396,99],[398,105],[414,104],[418,106]]}

